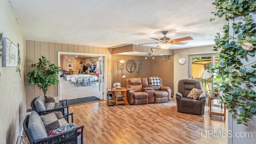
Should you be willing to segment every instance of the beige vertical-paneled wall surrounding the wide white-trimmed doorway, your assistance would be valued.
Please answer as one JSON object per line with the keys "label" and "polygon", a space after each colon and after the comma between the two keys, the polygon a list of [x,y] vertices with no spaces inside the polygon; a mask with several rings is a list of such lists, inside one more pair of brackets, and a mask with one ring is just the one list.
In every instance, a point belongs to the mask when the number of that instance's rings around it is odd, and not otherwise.
{"label": "beige vertical-paneled wall surrounding the wide white-trimmed doorway", "polygon": [[[81,46],[73,44],[60,44],[54,42],[40,42],[27,40],[27,59],[26,59],[26,72],[32,70],[31,64],[37,63],[38,59],[45,56],[53,64],[58,65],[58,52],[78,52],[88,54],[106,54],[107,59],[107,86],[111,85],[111,48],[101,48],[94,46]],[[51,86],[46,93],[47,96],[58,96],[58,86]],[[27,83],[27,108],[31,108],[30,102],[37,96],[44,96],[42,90],[37,86]]]}

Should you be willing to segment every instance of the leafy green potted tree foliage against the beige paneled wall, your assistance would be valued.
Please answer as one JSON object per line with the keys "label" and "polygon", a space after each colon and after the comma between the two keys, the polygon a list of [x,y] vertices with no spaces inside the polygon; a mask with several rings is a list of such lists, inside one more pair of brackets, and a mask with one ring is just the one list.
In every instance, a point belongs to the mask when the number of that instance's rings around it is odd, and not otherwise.
{"label": "leafy green potted tree foliage against the beige paneled wall", "polygon": [[39,62],[31,64],[31,67],[35,67],[35,70],[30,70],[26,76],[29,78],[29,84],[36,84],[38,88],[42,89],[44,96],[49,86],[59,83],[57,78],[60,73],[60,67],[51,64],[49,60],[46,60],[44,56],[39,58]]}

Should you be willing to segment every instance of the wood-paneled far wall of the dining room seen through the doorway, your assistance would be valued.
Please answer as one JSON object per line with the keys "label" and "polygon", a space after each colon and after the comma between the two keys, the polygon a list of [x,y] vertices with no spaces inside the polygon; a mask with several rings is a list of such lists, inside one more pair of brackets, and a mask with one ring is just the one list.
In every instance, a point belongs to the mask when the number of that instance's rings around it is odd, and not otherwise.
{"label": "wood-paneled far wall of the dining room seen through the doorway", "polygon": [[[71,59],[71,61],[69,62],[68,59]],[[85,65],[87,63],[90,64],[90,60],[95,61],[96,64],[97,64],[97,62],[99,61],[99,57],[97,57],[97,58],[77,58],[76,56],[65,56],[65,55],[63,55],[63,56],[60,56],[60,69],[69,70],[73,67],[73,70],[79,70],[79,69],[82,70],[82,68],[80,68],[80,65]],[[80,64],[81,61],[83,62],[83,64]],[[67,63],[72,63],[71,64],[72,67],[69,68],[67,66]]]}

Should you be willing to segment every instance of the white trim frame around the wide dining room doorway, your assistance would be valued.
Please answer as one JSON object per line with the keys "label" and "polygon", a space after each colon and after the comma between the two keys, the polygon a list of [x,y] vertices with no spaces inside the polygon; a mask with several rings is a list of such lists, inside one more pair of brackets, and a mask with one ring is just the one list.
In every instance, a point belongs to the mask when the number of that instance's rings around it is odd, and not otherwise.
{"label": "white trim frame around the wide dining room doorway", "polygon": [[[78,52],[58,52],[58,66],[60,67],[60,54],[72,54],[72,55],[84,55],[84,56],[102,56],[102,60],[104,60],[104,64],[105,64],[105,73],[104,73],[104,87],[106,87],[106,71],[107,71],[107,68],[106,68],[106,65],[107,65],[107,55],[106,54],[89,54],[89,53],[78,53]],[[58,74],[58,80],[60,80],[60,74]],[[104,92],[104,95],[102,95],[102,100],[105,100],[106,96],[106,88],[102,88],[102,92]],[[60,84],[58,84],[58,97],[60,99]]]}

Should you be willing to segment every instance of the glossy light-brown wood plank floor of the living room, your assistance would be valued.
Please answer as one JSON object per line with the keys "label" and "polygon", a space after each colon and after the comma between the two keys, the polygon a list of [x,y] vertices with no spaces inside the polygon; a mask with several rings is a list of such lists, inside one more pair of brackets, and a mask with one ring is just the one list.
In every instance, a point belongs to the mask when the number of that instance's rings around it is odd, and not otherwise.
{"label": "glossy light-brown wood plank floor of the living room", "polygon": [[223,117],[177,112],[176,101],[161,104],[111,106],[96,102],[70,107],[77,126],[84,125],[86,144],[227,144],[227,138],[201,138],[205,130],[223,130]]}

